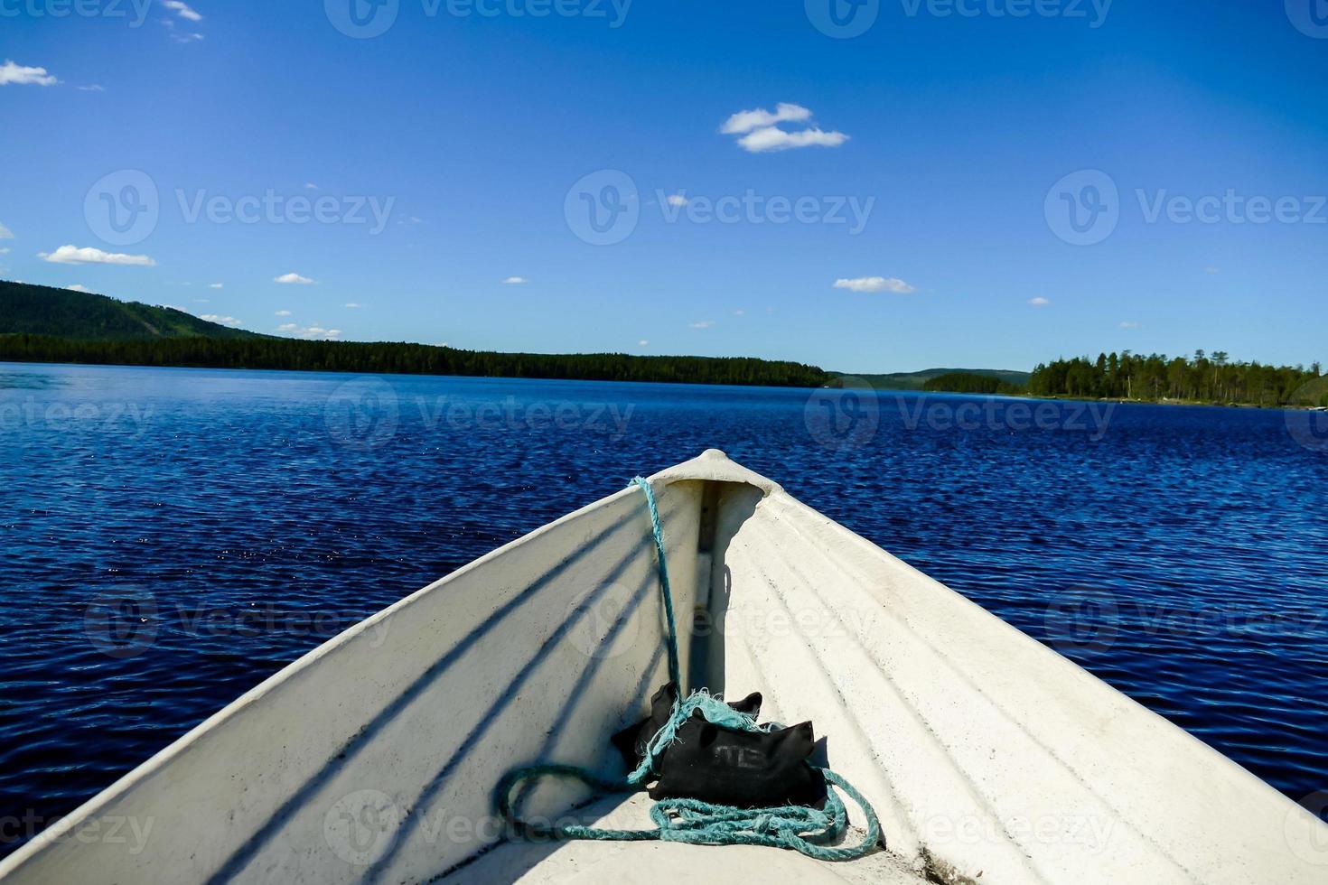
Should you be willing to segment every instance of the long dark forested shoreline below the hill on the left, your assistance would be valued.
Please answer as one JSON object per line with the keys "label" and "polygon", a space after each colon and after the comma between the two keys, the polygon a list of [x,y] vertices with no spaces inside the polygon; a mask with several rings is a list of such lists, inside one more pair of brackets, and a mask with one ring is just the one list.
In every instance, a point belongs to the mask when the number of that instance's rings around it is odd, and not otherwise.
{"label": "long dark forested shoreline below the hill on the left", "polygon": [[424,344],[207,338],[139,341],[0,334],[0,361],[206,369],[280,369],[582,381],[819,387],[834,375],[799,362],[750,357],[645,357],[625,353],[494,353]]}

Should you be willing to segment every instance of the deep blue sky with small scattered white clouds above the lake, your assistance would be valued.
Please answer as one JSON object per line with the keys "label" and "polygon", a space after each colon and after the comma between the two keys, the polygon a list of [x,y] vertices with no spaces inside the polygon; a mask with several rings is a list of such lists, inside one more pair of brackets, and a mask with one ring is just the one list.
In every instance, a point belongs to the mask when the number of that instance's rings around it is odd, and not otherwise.
{"label": "deep blue sky with small scattered white clouds above the lake", "polygon": [[1323,0],[378,1],[0,0],[0,276],[849,372],[1325,356]]}

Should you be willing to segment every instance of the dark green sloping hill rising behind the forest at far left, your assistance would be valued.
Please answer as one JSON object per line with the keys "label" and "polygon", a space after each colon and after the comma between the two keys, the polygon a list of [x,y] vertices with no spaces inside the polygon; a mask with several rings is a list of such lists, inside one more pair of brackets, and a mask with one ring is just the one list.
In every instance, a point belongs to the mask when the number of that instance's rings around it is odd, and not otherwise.
{"label": "dark green sloping hill rising behind the forest at far left", "polygon": [[40,334],[84,341],[159,338],[260,338],[177,310],[49,285],[0,281],[0,334]]}

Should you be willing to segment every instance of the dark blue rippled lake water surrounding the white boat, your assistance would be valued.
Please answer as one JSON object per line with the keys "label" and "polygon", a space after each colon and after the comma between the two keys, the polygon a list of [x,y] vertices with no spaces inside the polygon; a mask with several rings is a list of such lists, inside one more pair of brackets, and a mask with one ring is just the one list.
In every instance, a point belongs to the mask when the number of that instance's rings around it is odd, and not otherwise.
{"label": "dark blue rippled lake water surrounding the white boat", "polygon": [[1300,800],[1328,788],[1323,423],[0,364],[0,853],[351,624],[710,446]]}

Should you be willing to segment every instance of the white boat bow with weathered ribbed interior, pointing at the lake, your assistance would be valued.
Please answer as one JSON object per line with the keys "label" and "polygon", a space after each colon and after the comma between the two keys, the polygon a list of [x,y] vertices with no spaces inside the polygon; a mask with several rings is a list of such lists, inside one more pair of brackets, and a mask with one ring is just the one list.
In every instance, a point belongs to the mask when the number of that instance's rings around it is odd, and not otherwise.
{"label": "white boat bow with weathered ribbed interior, pointing at the lake", "polygon": [[[769,479],[710,450],[651,484],[691,687],[761,691],[764,718],[814,720],[830,767],[874,804],[884,851],[825,864],[501,839],[505,772],[556,760],[620,776],[608,736],[667,679],[651,523],[624,488],[308,653],[0,862],[0,878],[1328,881],[1317,817]],[[526,816],[586,799],[544,784]],[[640,796],[579,813],[644,820]],[[125,839],[108,836],[117,821]]]}

